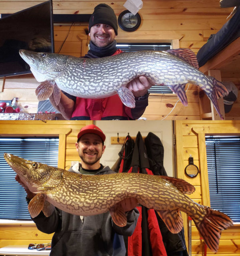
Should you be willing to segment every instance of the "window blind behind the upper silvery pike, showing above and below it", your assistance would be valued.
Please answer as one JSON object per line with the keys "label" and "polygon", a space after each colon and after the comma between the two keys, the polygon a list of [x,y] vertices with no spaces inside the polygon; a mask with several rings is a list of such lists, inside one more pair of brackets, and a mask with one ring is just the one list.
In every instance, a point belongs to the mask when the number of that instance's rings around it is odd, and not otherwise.
{"label": "window blind behind the upper silvery pike, showing above and below it", "polygon": [[[136,52],[138,50],[169,50],[170,43],[117,43],[117,47],[124,52]],[[167,86],[154,85],[148,89],[149,93],[172,94]]]}

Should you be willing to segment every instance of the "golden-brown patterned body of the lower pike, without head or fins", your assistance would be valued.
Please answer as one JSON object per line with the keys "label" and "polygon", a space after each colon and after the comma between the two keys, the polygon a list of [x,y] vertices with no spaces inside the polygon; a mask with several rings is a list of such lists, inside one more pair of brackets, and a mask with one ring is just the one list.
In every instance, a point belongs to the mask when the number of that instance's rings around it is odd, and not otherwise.
{"label": "golden-brown patterned body of the lower pike, without head or fins", "polygon": [[[64,172],[62,182],[46,192],[55,203],[66,204],[66,211],[77,215],[107,212],[111,206],[124,198],[134,197],[138,202],[155,210],[184,210],[201,212],[185,194],[160,176],[141,173],[116,173],[86,176]],[[73,202],[71,202],[73,200]],[[96,205],[97,202],[97,205]]]}

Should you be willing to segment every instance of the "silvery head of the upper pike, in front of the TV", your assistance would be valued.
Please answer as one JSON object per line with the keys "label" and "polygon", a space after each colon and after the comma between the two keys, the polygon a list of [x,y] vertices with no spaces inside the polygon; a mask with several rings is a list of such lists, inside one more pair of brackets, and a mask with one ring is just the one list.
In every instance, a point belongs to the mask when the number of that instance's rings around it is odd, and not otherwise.
{"label": "silvery head of the upper pike, in front of the TV", "polygon": [[19,50],[20,56],[28,63],[38,82],[57,79],[64,70],[68,56],[47,52]]}

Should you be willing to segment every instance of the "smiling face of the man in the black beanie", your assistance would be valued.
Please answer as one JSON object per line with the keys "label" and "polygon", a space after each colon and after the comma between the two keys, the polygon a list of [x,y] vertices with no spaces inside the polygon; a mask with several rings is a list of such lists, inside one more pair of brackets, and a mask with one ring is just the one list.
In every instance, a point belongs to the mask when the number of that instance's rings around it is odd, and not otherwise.
{"label": "smiling face of the man in the black beanie", "polygon": [[107,24],[94,24],[89,33],[91,41],[98,47],[106,47],[115,39],[115,31]]}

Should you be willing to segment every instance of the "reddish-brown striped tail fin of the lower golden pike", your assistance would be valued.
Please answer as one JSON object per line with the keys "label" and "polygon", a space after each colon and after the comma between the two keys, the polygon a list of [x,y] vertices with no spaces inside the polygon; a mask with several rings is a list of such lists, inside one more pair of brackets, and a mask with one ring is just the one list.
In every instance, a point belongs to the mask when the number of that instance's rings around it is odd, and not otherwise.
{"label": "reddish-brown striped tail fin of the lower golden pike", "polygon": [[204,206],[204,208],[206,215],[203,219],[194,219],[193,216],[191,218],[208,248],[213,252],[217,252],[221,231],[232,226],[233,222],[223,212],[213,210],[207,206]]}

